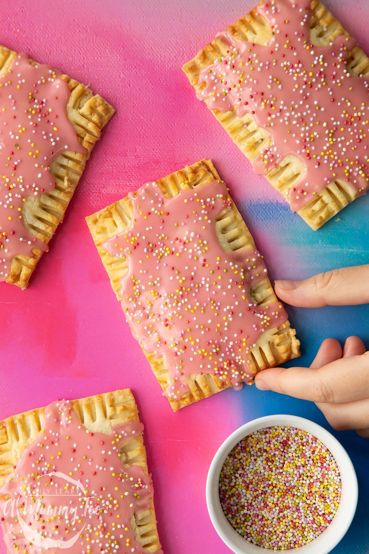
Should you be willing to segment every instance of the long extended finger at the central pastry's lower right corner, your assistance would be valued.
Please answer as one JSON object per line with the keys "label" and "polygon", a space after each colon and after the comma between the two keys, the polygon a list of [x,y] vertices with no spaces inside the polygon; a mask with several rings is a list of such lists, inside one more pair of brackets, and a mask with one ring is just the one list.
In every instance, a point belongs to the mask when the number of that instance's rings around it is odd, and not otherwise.
{"label": "long extended finger at the central pastry's lower right corner", "polygon": [[369,352],[340,358],[319,369],[273,368],[255,377],[262,391],[275,391],[322,403],[351,402],[369,397]]}

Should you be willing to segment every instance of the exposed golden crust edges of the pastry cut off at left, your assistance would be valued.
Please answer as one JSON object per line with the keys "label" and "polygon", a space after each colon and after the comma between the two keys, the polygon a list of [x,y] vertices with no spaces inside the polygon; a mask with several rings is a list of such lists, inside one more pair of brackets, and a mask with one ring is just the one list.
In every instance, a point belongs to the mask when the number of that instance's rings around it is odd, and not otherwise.
{"label": "exposed golden crust edges of the pastry cut off at left", "polygon": [[[0,45],[0,72],[11,65],[16,52]],[[35,63],[32,61],[32,63]],[[56,228],[63,220],[76,186],[85,170],[92,148],[100,139],[101,130],[114,113],[113,107],[98,94],[75,79],[63,75],[68,83],[70,98],[66,106],[67,119],[74,126],[79,142],[86,148],[86,155],[65,151],[50,163],[50,173],[55,188],[40,196],[27,197],[22,209],[23,221],[28,231],[44,243],[49,243]],[[41,257],[41,250],[33,248],[33,257],[17,255],[12,259],[7,283],[27,288],[29,278]]]}

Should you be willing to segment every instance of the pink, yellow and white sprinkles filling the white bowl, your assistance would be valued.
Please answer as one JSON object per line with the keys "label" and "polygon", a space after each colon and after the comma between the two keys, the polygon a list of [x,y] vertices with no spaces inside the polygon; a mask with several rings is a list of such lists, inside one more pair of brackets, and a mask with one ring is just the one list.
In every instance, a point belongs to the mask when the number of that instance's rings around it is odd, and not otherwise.
{"label": "pink, yellow and white sprinkles filling the white bowl", "polygon": [[228,454],[219,496],[228,522],[247,541],[291,550],[328,527],[339,507],[341,476],[332,454],[310,433],[267,427]]}

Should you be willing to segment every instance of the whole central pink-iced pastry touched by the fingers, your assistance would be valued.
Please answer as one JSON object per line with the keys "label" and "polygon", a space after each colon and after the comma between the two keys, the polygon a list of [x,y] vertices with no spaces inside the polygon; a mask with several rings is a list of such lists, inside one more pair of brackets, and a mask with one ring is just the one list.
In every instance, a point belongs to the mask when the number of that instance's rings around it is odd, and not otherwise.
{"label": "whole central pink-iced pastry touched by the fingers", "polygon": [[210,160],[86,220],[174,411],[299,355],[262,256]]}

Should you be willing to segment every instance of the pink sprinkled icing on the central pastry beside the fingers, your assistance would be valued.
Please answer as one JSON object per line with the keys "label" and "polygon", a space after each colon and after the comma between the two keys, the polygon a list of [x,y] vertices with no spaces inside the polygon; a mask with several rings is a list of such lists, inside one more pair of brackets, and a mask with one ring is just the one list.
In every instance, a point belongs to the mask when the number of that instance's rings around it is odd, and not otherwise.
{"label": "pink sprinkled icing on the central pastry beside the fingers", "polygon": [[189,391],[191,374],[211,373],[235,388],[251,383],[249,350],[287,320],[279,302],[257,306],[250,289],[267,275],[250,245],[224,252],[215,222],[230,206],[224,183],[164,197],[157,183],[130,193],[131,227],[103,248],[126,256],[122,308],[144,350],[164,358],[167,394]]}

